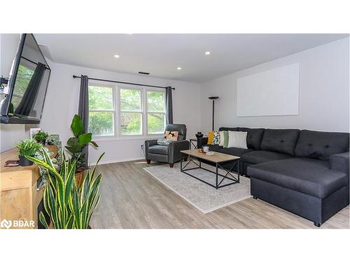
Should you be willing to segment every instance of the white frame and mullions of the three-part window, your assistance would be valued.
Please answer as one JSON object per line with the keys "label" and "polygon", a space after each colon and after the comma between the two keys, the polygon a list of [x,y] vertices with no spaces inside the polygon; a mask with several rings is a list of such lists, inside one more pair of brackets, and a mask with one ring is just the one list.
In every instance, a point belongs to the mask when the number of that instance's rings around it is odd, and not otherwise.
{"label": "white frame and mullions of the three-part window", "polygon": [[[99,87],[112,87],[113,94],[113,110],[90,110],[90,111],[106,111],[113,112],[113,136],[93,136],[95,141],[104,141],[104,140],[128,140],[128,139],[142,139],[142,138],[159,138],[161,133],[148,133],[148,108],[147,108],[147,92],[162,92],[164,93],[164,105],[165,105],[165,89],[152,88],[152,87],[135,87],[133,85],[125,85],[125,84],[117,84],[111,85],[111,83],[106,82],[89,82],[89,86],[99,86]],[[123,135],[120,133],[121,130],[121,122],[120,122],[120,89],[137,89],[141,92],[141,134],[136,135]],[[124,112],[139,112],[139,111],[124,111]],[[157,112],[160,113],[160,112]],[[166,110],[164,112],[166,116]],[[166,124],[166,123],[165,123]]]}

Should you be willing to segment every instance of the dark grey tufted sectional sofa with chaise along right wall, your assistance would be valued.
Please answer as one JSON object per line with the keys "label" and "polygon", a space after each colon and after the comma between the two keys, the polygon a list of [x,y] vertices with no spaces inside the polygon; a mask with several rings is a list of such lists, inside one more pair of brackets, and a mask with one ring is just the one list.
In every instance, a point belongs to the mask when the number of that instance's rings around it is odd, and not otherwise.
{"label": "dark grey tufted sectional sofa with chaise along right wall", "polygon": [[[251,195],[321,226],[349,205],[349,133],[299,129],[248,129],[247,147],[210,150],[241,157]],[[200,138],[198,146],[207,144]],[[230,165],[230,163],[228,163]]]}

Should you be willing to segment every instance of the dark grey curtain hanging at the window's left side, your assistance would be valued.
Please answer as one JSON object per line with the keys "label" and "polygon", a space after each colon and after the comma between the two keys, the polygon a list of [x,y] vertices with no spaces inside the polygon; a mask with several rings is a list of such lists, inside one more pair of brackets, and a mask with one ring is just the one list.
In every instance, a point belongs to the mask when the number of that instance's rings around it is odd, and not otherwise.
{"label": "dark grey curtain hanging at the window's left side", "polygon": [[[80,94],[79,94],[79,110],[78,115],[84,124],[84,131],[87,133],[87,125],[89,123],[89,79],[87,75],[81,75],[80,78]],[[89,147],[86,145],[83,148],[84,166],[88,167],[87,159],[89,158]]]}

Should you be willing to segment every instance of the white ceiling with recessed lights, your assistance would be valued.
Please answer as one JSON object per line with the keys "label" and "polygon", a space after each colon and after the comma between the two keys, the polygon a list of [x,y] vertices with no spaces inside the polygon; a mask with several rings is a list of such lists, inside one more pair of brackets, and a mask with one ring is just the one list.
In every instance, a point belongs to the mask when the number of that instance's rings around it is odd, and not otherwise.
{"label": "white ceiling with recessed lights", "polygon": [[[35,37],[55,62],[206,82],[349,34],[35,34]],[[207,50],[211,52],[209,56],[204,55]],[[114,58],[114,54],[120,58]],[[178,66],[181,71],[176,70]]]}

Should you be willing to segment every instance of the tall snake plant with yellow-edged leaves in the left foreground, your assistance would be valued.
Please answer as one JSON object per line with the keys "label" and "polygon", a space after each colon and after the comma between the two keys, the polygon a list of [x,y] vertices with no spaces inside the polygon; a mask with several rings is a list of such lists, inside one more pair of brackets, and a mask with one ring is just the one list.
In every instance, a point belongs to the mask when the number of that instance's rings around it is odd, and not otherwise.
{"label": "tall snake plant with yellow-edged leaves in the left foreground", "polygon": [[[43,203],[53,228],[88,228],[92,212],[99,203],[98,193],[102,174],[95,177],[97,166],[94,166],[87,171],[82,186],[78,187],[74,177],[76,160],[62,161],[62,167],[58,173],[48,152],[42,150],[42,153],[43,160],[34,157],[27,158],[48,171],[49,183],[45,187]],[[99,157],[97,163],[103,156],[104,154]],[[45,228],[49,228],[43,212],[39,214],[39,219]]]}

